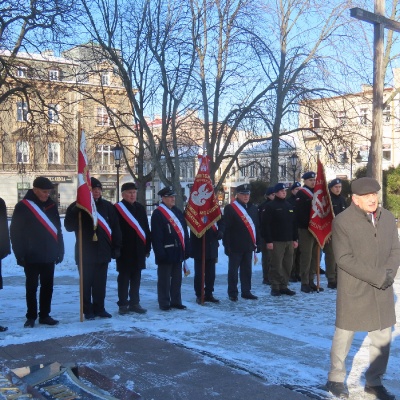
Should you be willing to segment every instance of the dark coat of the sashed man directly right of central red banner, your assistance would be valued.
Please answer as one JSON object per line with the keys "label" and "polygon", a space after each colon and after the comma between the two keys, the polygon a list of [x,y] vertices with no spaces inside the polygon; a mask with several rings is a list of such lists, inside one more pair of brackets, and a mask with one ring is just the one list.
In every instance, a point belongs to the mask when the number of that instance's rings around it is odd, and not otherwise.
{"label": "dark coat of the sashed man directly right of central red banner", "polygon": [[230,252],[245,253],[252,252],[254,250],[260,252],[261,237],[258,209],[252,203],[244,204],[239,201],[238,203],[246,209],[254,223],[257,248],[254,249],[253,239],[239,214],[234,210],[232,204],[228,204],[224,208],[225,231],[222,240],[222,243],[225,247],[225,253],[229,255]]}

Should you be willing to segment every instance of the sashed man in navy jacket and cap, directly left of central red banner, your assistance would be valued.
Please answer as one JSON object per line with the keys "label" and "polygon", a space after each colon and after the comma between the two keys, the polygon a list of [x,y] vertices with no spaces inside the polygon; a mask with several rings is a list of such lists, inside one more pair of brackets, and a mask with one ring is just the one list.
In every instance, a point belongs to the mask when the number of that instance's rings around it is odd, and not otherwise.
{"label": "sashed man in navy jacket and cap, directly left of central red banner", "polygon": [[182,263],[190,255],[189,233],[182,211],[175,206],[172,186],[158,192],[160,205],[151,216],[151,240],[157,268],[160,310],[186,309],[182,304]]}

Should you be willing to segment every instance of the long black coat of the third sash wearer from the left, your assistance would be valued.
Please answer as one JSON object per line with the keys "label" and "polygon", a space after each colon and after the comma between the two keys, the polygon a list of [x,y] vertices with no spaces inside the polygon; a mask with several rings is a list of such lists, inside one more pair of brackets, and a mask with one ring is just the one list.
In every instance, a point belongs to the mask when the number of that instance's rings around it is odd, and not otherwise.
{"label": "long black coat of the third sash wearer from the left", "polygon": [[139,222],[140,227],[146,234],[146,245],[144,245],[142,239],[138,236],[135,229],[128,224],[128,222],[116,208],[122,233],[121,256],[117,258],[117,271],[134,267],[144,269],[146,268],[146,255],[150,254],[151,250],[151,235],[146,209],[137,201],[135,201],[133,204],[130,204],[127,201],[122,200],[121,203],[124,204],[128,211]]}

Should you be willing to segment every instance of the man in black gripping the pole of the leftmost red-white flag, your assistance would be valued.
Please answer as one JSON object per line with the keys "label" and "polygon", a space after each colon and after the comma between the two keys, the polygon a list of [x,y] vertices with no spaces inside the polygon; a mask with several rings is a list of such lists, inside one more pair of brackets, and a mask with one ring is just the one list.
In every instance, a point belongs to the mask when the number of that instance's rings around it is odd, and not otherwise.
{"label": "man in black gripping the pole of the leftmost red-white flag", "polygon": [[[111,318],[105,310],[108,263],[118,258],[121,249],[121,230],[114,206],[103,199],[101,182],[91,178],[92,194],[98,214],[94,240],[93,220],[87,212],[81,211],[82,218],[82,270],[83,270],[83,313],[85,319],[95,317]],[[75,261],[79,265],[79,212],[76,201],[65,213],[64,226],[68,232],[75,232]]]}

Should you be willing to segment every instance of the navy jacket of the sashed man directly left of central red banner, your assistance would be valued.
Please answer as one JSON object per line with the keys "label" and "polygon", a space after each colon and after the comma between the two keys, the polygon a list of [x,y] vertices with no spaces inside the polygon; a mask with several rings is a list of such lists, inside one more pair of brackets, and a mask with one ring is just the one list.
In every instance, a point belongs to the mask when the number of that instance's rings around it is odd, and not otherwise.
{"label": "navy jacket of the sashed man directly left of central red banner", "polygon": [[188,228],[182,211],[174,206],[171,211],[179,219],[185,234],[185,250],[174,227],[156,208],[151,215],[151,241],[156,264],[172,264],[183,262],[190,256],[190,239]]}

